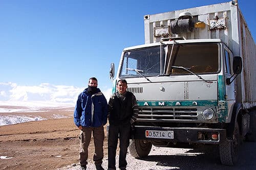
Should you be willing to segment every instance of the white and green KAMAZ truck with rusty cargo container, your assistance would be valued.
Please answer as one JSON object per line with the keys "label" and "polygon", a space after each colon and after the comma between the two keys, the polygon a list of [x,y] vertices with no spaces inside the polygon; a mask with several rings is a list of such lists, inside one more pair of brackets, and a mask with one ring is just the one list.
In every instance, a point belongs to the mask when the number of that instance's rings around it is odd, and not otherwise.
{"label": "white and green KAMAZ truck with rusty cargo container", "polygon": [[130,154],[156,147],[215,145],[234,165],[244,140],[256,140],[255,42],[230,1],[144,16],[145,44],[124,48],[115,77],[127,81],[139,114]]}

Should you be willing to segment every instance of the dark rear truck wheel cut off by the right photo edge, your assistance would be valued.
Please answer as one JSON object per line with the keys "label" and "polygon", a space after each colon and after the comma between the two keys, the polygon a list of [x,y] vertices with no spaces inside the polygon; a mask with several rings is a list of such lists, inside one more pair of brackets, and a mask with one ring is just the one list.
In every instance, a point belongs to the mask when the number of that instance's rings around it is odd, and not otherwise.
{"label": "dark rear truck wheel cut off by the right photo edge", "polygon": [[247,141],[256,141],[256,110],[249,112],[250,114],[250,130],[246,134]]}

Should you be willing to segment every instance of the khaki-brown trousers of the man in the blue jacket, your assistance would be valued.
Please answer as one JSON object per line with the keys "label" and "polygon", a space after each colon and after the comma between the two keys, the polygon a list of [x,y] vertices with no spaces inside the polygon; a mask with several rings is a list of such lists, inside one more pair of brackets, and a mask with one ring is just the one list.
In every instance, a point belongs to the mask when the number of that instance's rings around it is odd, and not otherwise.
{"label": "khaki-brown trousers of the man in the blue jacket", "polygon": [[79,136],[80,139],[80,155],[79,161],[80,165],[84,166],[87,165],[88,159],[88,147],[91,141],[91,136],[93,132],[93,140],[94,140],[94,147],[95,153],[93,156],[93,161],[96,165],[102,164],[103,159],[103,141],[104,141],[104,129],[103,126],[96,127],[96,128],[86,128],[83,127]]}

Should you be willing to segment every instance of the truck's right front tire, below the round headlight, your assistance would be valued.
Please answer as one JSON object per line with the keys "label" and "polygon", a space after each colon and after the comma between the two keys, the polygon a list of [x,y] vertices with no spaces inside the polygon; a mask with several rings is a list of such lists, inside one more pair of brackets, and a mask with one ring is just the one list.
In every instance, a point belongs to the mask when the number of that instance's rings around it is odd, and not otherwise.
{"label": "truck's right front tire, below the round headlight", "polygon": [[240,134],[238,123],[234,127],[233,140],[226,139],[219,144],[220,160],[224,165],[233,166],[238,161]]}

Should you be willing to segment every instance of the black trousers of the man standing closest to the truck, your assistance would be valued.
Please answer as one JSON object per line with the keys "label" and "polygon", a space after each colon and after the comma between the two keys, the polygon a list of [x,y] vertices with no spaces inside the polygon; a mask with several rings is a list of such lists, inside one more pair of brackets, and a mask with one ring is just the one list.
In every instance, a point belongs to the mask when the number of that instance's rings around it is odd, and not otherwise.
{"label": "black trousers of the man standing closest to the truck", "polygon": [[109,169],[116,169],[116,149],[119,136],[119,168],[125,168],[127,165],[126,154],[130,144],[131,125],[110,125],[109,141],[108,141],[108,156]]}

